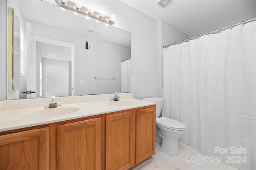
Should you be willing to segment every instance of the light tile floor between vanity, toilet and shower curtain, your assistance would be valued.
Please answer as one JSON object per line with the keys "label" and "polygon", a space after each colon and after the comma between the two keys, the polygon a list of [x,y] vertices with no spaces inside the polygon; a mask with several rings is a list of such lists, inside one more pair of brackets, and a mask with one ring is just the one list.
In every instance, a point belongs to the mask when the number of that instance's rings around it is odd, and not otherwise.
{"label": "light tile floor between vanity, toilet and shower curtain", "polygon": [[[237,170],[233,166],[223,163],[220,160],[208,161],[210,158],[206,154],[202,155],[189,145],[179,142],[180,154],[170,156],[156,148],[156,154],[152,156],[146,164],[135,168],[136,170]],[[203,161],[192,162],[192,158],[202,155]],[[205,158],[207,157],[207,158]],[[188,161],[186,161],[188,160]],[[215,163],[216,162],[216,163]],[[218,163],[219,162],[219,163]]]}

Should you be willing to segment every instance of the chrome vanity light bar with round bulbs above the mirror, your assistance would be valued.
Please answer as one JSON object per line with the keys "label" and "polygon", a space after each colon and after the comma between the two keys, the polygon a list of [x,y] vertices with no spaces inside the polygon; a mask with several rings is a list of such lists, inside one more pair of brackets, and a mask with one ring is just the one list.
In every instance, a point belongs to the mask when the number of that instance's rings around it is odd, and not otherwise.
{"label": "chrome vanity light bar with round bulbs above the mirror", "polygon": [[106,25],[113,25],[116,17],[114,15],[106,16],[105,11],[97,12],[94,8],[84,7],[81,2],[72,2],[69,0],[55,0],[60,8],[72,11],[74,14],[82,14],[86,19],[94,18],[97,22],[101,21]]}

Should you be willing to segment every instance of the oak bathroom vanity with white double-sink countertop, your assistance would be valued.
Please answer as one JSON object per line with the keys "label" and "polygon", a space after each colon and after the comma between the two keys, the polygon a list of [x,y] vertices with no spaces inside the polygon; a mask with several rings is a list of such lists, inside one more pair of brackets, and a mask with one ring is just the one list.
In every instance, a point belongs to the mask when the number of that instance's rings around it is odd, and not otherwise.
{"label": "oak bathroom vanity with white double-sink countertop", "polygon": [[[1,101],[1,169],[117,170],[148,160],[155,153],[155,103],[134,99],[131,93],[120,94],[116,103],[104,100],[112,96],[57,98],[59,104],[72,98],[74,104],[62,108],[79,111],[47,118],[38,115],[34,121],[19,117],[33,115],[41,107],[8,110],[12,104]],[[10,121],[14,112],[17,116]]]}

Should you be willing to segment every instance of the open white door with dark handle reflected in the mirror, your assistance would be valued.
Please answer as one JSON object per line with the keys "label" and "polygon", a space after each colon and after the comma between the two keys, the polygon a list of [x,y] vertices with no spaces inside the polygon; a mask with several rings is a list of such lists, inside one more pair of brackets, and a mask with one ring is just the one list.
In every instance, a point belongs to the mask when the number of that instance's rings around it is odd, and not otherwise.
{"label": "open white door with dark handle reflected in the mirror", "polygon": [[36,98],[36,41],[30,23],[27,23],[27,98]]}

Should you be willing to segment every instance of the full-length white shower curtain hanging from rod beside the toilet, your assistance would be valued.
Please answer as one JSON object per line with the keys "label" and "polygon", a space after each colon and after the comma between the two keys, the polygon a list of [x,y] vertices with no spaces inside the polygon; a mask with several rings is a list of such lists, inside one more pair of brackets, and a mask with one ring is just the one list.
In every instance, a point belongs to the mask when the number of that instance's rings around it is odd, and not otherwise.
{"label": "full-length white shower curtain hanging from rod beside the toilet", "polygon": [[[236,168],[256,169],[255,66],[255,21],[164,48],[162,116],[187,126],[179,140]],[[246,153],[232,152],[240,147]]]}

